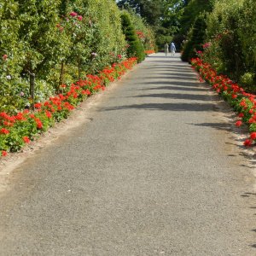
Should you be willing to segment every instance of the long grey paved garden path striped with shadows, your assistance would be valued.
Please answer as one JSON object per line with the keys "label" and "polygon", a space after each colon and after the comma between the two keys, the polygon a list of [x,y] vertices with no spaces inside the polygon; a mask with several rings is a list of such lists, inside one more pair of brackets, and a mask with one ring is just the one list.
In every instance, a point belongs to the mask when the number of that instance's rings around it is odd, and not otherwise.
{"label": "long grey paved garden path striped with shadows", "polygon": [[9,174],[0,255],[255,255],[253,156],[189,65],[150,55],[101,95]]}

